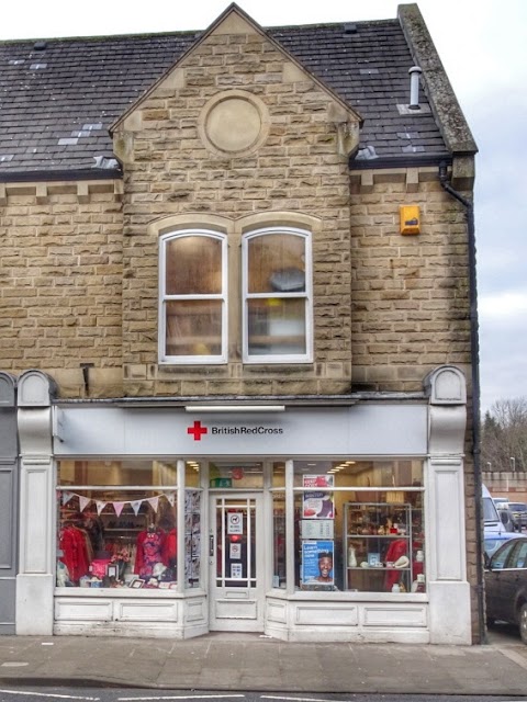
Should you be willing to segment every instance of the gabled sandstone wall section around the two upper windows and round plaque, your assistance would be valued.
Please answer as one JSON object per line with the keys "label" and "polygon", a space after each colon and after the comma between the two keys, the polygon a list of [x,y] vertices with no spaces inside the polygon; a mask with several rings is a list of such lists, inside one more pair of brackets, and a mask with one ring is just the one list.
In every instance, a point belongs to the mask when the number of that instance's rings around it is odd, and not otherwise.
{"label": "gabled sandstone wall section around the two upper windows and round plaque", "polygon": [[[243,154],[211,148],[204,113],[217,95],[249,94],[261,104],[265,138]],[[212,33],[128,115],[115,134],[125,161],[123,359],[126,393],[290,394],[350,388],[349,177],[332,122],[335,99],[265,36]],[[340,105],[337,105],[343,112]],[[268,224],[316,217],[312,364],[242,365],[239,308],[224,366],[157,363],[158,231],[164,218]],[[152,223],[158,230],[148,231]],[[233,227],[234,229],[235,227]],[[239,233],[228,231],[231,270]],[[237,290],[240,290],[238,285]]]}

